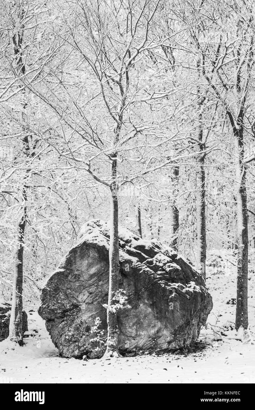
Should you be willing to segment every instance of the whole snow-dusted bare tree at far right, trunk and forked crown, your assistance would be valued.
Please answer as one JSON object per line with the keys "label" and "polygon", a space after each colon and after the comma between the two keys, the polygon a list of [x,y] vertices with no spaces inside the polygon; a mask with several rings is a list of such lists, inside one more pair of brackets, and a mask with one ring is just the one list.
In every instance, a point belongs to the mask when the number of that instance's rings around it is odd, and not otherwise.
{"label": "whole snow-dusted bare tree at far right, trunk and forked crown", "polygon": [[[199,10],[207,9],[206,4],[204,0],[198,4],[196,2]],[[221,1],[213,17],[209,9],[204,15],[200,14],[200,11],[192,11],[186,22],[190,25],[191,38],[197,53],[202,57],[203,78],[210,87],[212,98],[216,98],[225,110],[234,138],[238,232],[235,326],[236,329],[240,327],[246,329],[248,327],[248,218],[247,160],[244,143],[245,132],[250,134],[253,132],[246,116],[247,96],[254,68],[254,5],[252,2],[245,4],[242,1],[229,5]],[[200,37],[196,31],[198,25],[203,28]],[[212,34],[213,41],[210,42]]]}

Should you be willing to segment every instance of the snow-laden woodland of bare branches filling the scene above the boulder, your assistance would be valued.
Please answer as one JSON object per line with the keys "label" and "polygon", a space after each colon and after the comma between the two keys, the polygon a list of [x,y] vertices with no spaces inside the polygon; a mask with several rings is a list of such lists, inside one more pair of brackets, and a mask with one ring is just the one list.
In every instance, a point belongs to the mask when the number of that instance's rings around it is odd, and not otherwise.
{"label": "snow-laden woodland of bare branches filling the scene above the boulder", "polygon": [[120,225],[138,232],[140,219],[144,239],[204,276],[206,253],[236,254],[236,328],[247,328],[254,11],[252,0],[3,0],[0,296],[14,283],[38,301],[114,197]]}

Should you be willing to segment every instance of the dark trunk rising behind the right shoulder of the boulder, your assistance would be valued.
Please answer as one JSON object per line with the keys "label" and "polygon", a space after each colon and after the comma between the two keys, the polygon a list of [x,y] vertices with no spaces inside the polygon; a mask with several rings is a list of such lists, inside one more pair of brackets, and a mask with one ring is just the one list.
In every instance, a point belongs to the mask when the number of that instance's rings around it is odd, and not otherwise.
{"label": "dark trunk rising behind the right shoulder of the boulder", "polygon": [[197,223],[197,268],[206,279],[206,227],[205,227],[205,159],[201,144],[201,155],[197,159],[196,180],[198,189],[196,191],[196,223]]}

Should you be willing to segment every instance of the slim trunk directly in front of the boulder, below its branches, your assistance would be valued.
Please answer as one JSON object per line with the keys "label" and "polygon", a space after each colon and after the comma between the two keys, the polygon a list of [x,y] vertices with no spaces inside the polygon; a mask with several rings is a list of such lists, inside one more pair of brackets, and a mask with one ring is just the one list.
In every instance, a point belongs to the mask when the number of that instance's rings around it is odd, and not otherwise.
{"label": "slim trunk directly in front of the boulder, below its branches", "polygon": [[119,289],[119,232],[118,232],[118,187],[116,181],[117,160],[114,159],[117,154],[113,154],[111,161],[111,176],[113,183],[111,185],[111,216],[110,216],[110,248],[109,248],[109,295],[107,307],[107,323],[108,323],[108,338],[107,347],[104,357],[118,356],[118,325],[117,312],[114,305],[116,303],[115,296]]}

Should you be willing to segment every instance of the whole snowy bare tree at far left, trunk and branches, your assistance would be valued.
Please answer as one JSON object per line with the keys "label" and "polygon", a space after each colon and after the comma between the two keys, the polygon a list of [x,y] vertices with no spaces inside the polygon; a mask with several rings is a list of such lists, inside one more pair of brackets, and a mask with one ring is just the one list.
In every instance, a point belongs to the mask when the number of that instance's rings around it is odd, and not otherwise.
{"label": "whole snowy bare tree at far left, trunk and branches", "polygon": [[[23,253],[25,244],[25,229],[27,225],[27,197],[29,180],[32,174],[31,162],[35,156],[37,140],[29,132],[28,120],[28,89],[24,84],[25,77],[29,82],[38,80],[44,64],[50,61],[49,48],[45,54],[39,51],[29,60],[29,46],[32,48],[38,43],[37,27],[41,23],[41,16],[45,12],[43,5],[28,4],[26,0],[7,2],[3,13],[5,27],[2,37],[2,92],[0,103],[3,112],[9,113],[9,121],[5,125],[7,132],[5,138],[14,137],[21,145],[20,152],[14,157],[12,173],[20,166],[19,187],[19,212],[16,233],[16,251],[14,254],[14,275],[12,291],[12,307],[9,324],[9,338],[23,345],[22,309],[23,309]],[[29,46],[28,46],[29,43]],[[36,47],[34,48],[36,50]],[[45,57],[45,59],[44,59]],[[10,173],[10,176],[12,175]],[[8,177],[7,177],[8,179]],[[17,200],[17,198],[16,198]]]}

